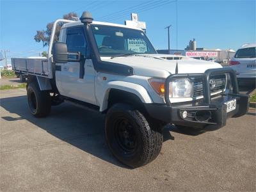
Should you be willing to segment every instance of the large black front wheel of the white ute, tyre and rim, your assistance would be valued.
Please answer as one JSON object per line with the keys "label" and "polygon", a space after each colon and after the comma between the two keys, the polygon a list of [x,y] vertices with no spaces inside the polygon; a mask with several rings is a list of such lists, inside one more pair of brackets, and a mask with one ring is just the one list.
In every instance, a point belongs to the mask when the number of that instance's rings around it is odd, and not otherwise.
{"label": "large black front wheel of the white ute, tyre and rim", "polygon": [[163,143],[161,129],[150,128],[145,116],[127,104],[109,109],[105,134],[113,155],[132,168],[156,159]]}

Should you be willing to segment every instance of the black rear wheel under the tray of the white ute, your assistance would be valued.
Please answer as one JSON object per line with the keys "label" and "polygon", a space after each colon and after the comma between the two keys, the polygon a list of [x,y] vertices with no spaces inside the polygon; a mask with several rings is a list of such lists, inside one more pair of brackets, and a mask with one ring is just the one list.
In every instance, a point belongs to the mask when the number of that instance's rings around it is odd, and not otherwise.
{"label": "black rear wheel under the tray of the white ute", "polygon": [[41,91],[38,84],[31,82],[27,89],[28,104],[31,113],[36,117],[47,116],[51,112],[51,95]]}

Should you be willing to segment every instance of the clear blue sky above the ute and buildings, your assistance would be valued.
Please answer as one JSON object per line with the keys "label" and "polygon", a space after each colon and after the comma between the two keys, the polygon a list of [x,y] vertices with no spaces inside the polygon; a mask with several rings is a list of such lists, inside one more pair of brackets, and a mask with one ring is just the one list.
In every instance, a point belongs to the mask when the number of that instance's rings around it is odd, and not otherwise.
{"label": "clear blue sky above the ute and buildings", "polygon": [[[124,24],[138,13],[147,24],[147,36],[156,49],[184,49],[195,38],[197,47],[234,49],[256,42],[256,0],[63,1],[0,0],[0,51],[12,57],[38,56],[47,51],[35,42],[36,30],[69,12],[79,17],[90,11],[94,20]],[[3,65],[0,61],[0,65]]]}

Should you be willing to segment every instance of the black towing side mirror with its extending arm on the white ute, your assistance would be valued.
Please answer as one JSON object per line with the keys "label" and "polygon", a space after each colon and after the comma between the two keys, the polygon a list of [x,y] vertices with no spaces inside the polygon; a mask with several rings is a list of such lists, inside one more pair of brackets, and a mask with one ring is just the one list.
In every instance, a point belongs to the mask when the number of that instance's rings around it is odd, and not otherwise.
{"label": "black towing side mirror with its extending arm on the white ute", "polygon": [[54,63],[80,62],[81,52],[68,52],[67,44],[56,42],[52,47],[52,60]]}

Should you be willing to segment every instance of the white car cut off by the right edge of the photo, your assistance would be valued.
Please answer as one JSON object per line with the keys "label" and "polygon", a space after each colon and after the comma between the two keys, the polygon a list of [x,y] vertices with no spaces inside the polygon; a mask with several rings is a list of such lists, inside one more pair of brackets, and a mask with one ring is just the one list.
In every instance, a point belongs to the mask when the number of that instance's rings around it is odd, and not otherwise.
{"label": "white car cut off by the right edge of the photo", "polygon": [[230,61],[230,67],[236,70],[239,81],[256,79],[256,44],[241,46]]}

